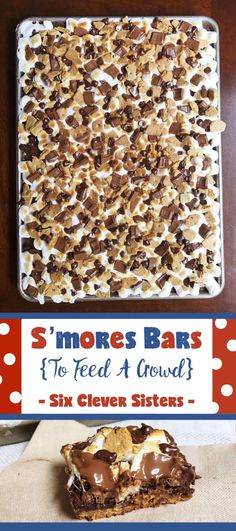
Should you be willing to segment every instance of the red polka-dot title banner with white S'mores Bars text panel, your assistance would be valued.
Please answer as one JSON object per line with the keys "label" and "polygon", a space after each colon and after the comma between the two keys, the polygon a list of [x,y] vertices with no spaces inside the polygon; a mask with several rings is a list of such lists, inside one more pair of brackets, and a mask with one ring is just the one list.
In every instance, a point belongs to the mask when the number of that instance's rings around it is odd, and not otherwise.
{"label": "red polka-dot title banner with white S'mores Bars text panel", "polygon": [[235,414],[234,319],[0,319],[0,414]]}

